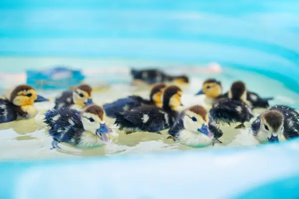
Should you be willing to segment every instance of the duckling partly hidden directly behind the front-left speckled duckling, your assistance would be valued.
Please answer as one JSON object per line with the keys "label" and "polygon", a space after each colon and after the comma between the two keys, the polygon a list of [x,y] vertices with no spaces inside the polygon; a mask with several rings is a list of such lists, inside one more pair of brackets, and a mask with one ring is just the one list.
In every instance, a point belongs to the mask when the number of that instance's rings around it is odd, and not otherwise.
{"label": "duckling partly hidden directly behind the front-left speckled duckling", "polygon": [[83,84],[74,88],[73,91],[65,91],[55,99],[54,109],[61,107],[85,108],[93,104],[92,88]]}

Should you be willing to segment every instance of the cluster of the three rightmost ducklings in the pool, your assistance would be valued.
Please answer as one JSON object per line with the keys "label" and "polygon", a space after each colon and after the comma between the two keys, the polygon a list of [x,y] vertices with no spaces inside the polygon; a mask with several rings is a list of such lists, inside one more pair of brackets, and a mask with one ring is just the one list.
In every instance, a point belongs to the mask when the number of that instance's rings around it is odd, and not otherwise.
{"label": "cluster of the three rightmost ducklings in the pool", "polygon": [[[287,105],[270,107],[269,100],[261,98],[256,93],[247,91],[246,85],[237,81],[230,90],[222,94],[221,82],[208,79],[196,95],[206,95],[206,103],[211,105],[210,117],[217,123],[240,123],[235,128],[245,128],[253,110],[266,109],[250,125],[253,136],[261,143],[279,142],[299,136],[299,113]],[[267,109],[268,108],[268,109]]]}

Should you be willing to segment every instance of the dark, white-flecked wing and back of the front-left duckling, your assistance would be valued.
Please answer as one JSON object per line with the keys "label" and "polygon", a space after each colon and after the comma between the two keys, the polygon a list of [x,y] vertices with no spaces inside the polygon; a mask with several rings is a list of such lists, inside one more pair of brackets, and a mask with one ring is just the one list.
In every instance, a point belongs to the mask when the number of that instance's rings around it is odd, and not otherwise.
{"label": "dark, white-flecked wing and back of the front-left duckling", "polygon": [[80,133],[84,131],[80,112],[76,109],[62,107],[48,110],[44,123],[50,127],[49,135],[59,142],[77,144]]}

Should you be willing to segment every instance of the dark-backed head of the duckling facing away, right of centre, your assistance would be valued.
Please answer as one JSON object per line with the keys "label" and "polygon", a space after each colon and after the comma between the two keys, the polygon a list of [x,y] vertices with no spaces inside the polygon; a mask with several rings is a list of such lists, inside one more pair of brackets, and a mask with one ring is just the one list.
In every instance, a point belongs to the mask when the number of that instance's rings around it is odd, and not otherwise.
{"label": "dark-backed head of the duckling facing away, right of centre", "polygon": [[232,100],[246,101],[247,90],[244,82],[234,82],[228,92],[228,97]]}

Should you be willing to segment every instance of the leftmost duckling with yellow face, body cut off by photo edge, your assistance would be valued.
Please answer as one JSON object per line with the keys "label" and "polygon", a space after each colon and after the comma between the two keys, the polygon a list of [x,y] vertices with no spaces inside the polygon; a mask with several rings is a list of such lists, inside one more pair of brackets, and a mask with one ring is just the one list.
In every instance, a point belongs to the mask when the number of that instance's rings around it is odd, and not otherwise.
{"label": "leftmost duckling with yellow face, body cut off by photo edge", "polygon": [[0,99],[0,123],[18,119],[29,119],[37,114],[34,102],[48,101],[38,96],[28,85],[17,86],[10,94],[10,99]]}

